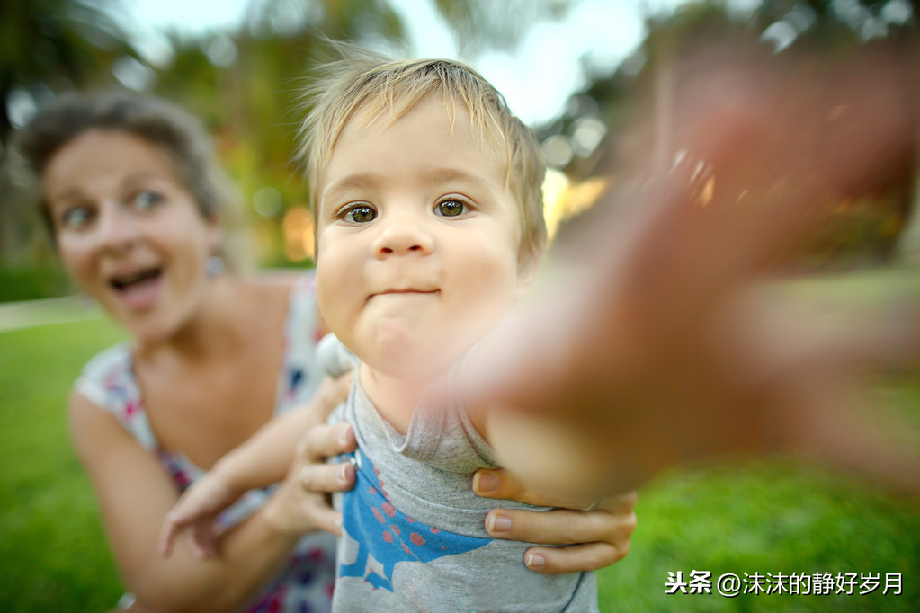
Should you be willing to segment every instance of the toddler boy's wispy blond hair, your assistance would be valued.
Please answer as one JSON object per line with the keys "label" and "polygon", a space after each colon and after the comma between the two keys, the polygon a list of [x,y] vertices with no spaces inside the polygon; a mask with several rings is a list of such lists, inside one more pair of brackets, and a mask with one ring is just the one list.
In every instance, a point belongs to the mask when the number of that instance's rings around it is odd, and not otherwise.
{"label": "toddler boy's wispy blond hair", "polygon": [[[505,184],[521,210],[520,262],[546,247],[543,179],[546,163],[534,132],[512,115],[501,96],[481,74],[453,60],[396,61],[352,45],[335,44],[340,59],[317,69],[306,88],[309,111],[299,131],[296,155],[305,166],[310,208],[316,226],[316,185],[345,124],[368,125],[385,111],[399,119],[429,95],[442,96],[452,108],[466,108],[483,141],[506,153]],[[318,246],[318,245],[317,245]]]}

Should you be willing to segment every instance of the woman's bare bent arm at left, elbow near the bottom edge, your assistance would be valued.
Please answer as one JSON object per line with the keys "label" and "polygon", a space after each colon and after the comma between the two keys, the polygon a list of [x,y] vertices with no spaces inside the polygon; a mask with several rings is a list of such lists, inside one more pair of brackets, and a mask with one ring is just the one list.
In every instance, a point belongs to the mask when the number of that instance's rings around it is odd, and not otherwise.
{"label": "woman's bare bent arm at left, elbow near the bottom edge", "polygon": [[[178,494],[162,466],[114,417],[77,392],[71,396],[70,426],[77,454],[96,491],[122,579],[144,609],[236,609],[278,573],[305,531],[335,526],[335,512],[322,502],[322,496],[306,492],[299,483],[294,488],[285,482],[266,505],[225,536],[218,557],[201,562],[190,547],[180,545],[166,560],[157,554],[156,539]],[[330,440],[323,451],[350,447],[351,441],[343,446],[334,433],[327,435]],[[316,438],[311,442],[316,443]],[[302,452],[298,460],[304,456]],[[319,469],[324,468],[330,475],[340,474],[335,466],[316,467],[316,472],[323,474]],[[350,482],[336,478],[320,484],[327,491],[351,487]],[[313,504],[305,504],[307,498]],[[290,505],[297,506],[298,515],[287,512]]]}

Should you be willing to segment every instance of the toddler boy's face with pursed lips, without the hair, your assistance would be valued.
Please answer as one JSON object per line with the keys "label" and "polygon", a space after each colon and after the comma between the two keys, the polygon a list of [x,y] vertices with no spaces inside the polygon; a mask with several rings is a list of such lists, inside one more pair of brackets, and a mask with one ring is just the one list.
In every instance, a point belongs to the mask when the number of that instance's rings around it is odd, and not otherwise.
{"label": "toddler boy's face with pursed lips, without the hair", "polygon": [[390,123],[351,119],[316,189],[316,293],[329,328],[372,369],[443,369],[508,312],[520,212],[503,155],[456,108],[423,98]]}

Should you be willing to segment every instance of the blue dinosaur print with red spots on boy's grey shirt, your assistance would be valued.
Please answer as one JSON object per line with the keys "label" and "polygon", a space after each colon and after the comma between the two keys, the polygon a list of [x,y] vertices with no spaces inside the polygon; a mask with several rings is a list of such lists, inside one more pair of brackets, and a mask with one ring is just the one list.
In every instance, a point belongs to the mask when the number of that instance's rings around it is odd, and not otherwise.
{"label": "blue dinosaur print with red spots on boy's grey shirt", "polygon": [[[362,577],[392,592],[397,562],[431,562],[491,542],[444,532],[408,517],[386,498],[371,460],[361,449],[353,455],[357,481],[353,490],[342,495],[342,522],[344,531],[358,543],[358,557],[351,564],[339,563],[339,576]],[[368,556],[383,565],[383,576],[369,567]]]}

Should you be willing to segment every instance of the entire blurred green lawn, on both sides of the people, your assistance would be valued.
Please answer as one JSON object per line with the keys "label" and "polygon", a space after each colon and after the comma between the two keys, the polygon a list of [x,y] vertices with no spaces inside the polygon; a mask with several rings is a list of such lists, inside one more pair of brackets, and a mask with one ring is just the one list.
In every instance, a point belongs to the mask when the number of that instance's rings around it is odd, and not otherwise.
{"label": "entire blurred green lawn, on both sides of the people", "polygon": [[[67,392],[119,339],[105,322],[0,333],[0,611],[101,611],[121,593],[67,438]],[[880,384],[920,430],[918,380]],[[600,574],[604,611],[920,611],[920,505],[791,462],[680,471],[639,493],[626,560]],[[903,593],[665,595],[669,572],[901,573]]]}

